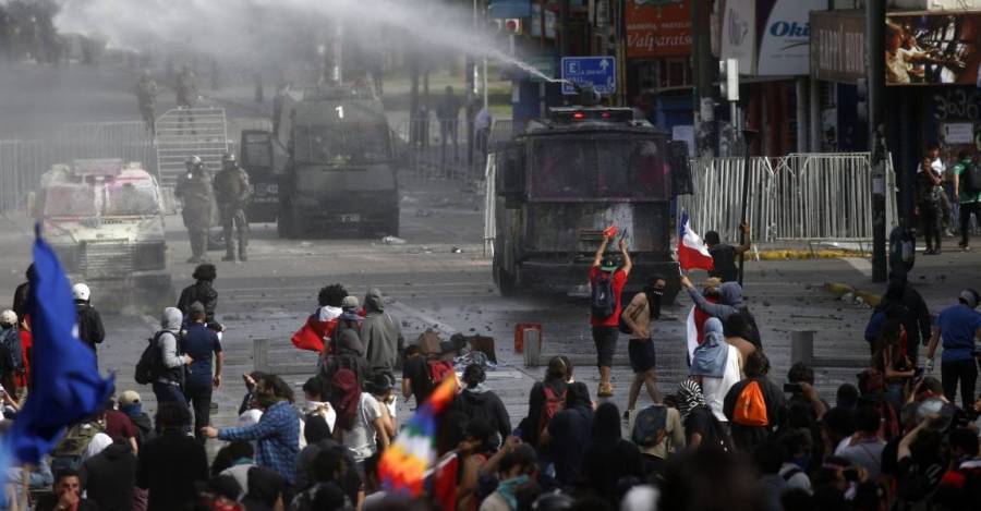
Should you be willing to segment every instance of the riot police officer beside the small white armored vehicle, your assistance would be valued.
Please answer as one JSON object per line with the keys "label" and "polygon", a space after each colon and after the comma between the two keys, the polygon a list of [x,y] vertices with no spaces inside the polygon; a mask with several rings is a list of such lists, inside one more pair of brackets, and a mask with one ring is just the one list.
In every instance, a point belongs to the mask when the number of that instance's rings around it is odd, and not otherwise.
{"label": "riot police officer beside the small white armored vehicle", "polygon": [[178,178],[173,194],[183,203],[181,215],[191,238],[191,258],[187,263],[207,263],[205,251],[208,247],[208,229],[211,227],[211,208],[215,203],[211,177],[197,156],[187,158],[184,165],[187,172]]}

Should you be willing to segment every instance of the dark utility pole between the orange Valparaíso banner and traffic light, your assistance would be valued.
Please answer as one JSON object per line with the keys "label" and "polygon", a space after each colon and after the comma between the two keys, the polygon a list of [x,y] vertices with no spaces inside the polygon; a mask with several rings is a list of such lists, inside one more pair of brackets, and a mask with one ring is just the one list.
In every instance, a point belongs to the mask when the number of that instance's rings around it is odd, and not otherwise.
{"label": "dark utility pole between the orange Valpara\u00edso banner and traffic light", "polygon": [[712,71],[715,64],[712,62],[712,40],[710,38],[707,0],[691,1],[691,65],[694,74],[694,134],[695,154],[698,156],[713,156],[715,141],[715,101],[712,99]]}

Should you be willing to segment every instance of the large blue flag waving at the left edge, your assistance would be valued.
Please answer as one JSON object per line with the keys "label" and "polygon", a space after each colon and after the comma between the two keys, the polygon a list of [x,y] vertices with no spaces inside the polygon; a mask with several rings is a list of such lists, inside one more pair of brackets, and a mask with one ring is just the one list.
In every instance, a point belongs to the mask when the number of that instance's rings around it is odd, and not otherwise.
{"label": "large blue flag waving at the left edge", "polygon": [[4,439],[14,458],[32,464],[51,452],[68,426],[99,410],[113,389],[113,378],[99,376],[95,353],[77,338],[71,285],[55,251],[39,226],[35,234],[28,302],[34,387]]}

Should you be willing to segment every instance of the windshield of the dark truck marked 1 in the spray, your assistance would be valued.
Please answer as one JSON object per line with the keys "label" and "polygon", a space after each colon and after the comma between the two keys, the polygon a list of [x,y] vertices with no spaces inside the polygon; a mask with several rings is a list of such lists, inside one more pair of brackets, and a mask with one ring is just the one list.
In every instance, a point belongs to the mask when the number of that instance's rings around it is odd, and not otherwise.
{"label": "windshield of the dark truck marked 1 in the spray", "polygon": [[384,125],[353,122],[296,126],[293,156],[299,163],[331,166],[388,161],[387,130]]}

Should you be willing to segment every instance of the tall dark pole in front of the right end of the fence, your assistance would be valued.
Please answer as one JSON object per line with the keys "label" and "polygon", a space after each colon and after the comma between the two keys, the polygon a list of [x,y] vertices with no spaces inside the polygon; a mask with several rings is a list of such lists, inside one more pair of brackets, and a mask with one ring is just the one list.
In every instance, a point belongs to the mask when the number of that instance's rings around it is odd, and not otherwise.
{"label": "tall dark pole in front of the right end of the fence", "polygon": [[885,0],[865,0],[865,69],[869,70],[869,149],[872,161],[872,281],[885,282]]}

